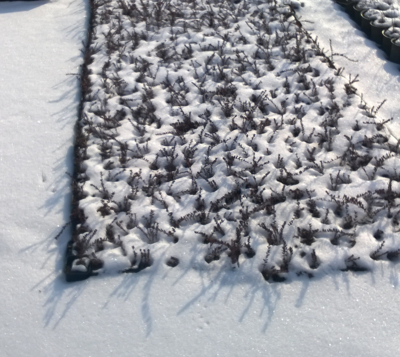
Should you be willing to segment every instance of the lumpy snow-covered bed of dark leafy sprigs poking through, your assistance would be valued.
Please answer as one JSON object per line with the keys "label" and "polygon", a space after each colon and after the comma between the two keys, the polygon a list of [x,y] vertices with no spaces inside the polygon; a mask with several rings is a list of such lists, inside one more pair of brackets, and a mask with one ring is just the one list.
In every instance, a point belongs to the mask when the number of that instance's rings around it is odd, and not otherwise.
{"label": "lumpy snow-covered bed of dark leafy sprigs poking through", "polygon": [[281,280],[398,255],[396,198],[385,201],[398,139],[336,55],[279,3],[171,4],[146,23],[140,6],[96,6],[78,258],[100,274],[168,256],[184,270],[230,260],[238,274]]}

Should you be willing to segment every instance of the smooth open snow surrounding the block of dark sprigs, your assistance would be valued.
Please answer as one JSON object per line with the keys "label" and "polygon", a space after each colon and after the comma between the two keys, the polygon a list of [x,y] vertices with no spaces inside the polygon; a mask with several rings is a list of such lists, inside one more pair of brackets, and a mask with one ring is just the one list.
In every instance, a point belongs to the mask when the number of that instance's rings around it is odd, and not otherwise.
{"label": "smooth open snow surrounding the block of dark sprigs", "polygon": [[[73,126],[80,98],[80,49],[87,4],[80,0],[1,2],[2,180],[1,356],[393,356],[400,272],[266,283],[222,267],[66,283]],[[368,103],[400,137],[399,70],[339,6],[307,1],[298,15],[336,58]],[[160,274],[162,271],[162,274]]]}

